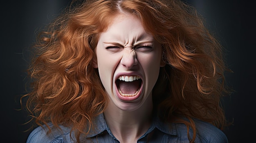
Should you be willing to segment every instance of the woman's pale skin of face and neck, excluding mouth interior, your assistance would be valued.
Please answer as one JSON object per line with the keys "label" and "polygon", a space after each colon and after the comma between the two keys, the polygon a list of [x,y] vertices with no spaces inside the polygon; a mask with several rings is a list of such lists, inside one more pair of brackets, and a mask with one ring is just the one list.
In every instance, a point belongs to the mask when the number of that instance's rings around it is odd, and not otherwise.
{"label": "woman's pale skin of face and neck, excluding mouth interior", "polygon": [[[110,98],[104,117],[112,134],[121,143],[137,143],[151,124],[152,89],[162,62],[161,45],[147,33],[140,20],[119,14],[108,30],[101,33],[93,67]],[[141,79],[141,87],[132,93],[120,93],[119,77]]]}

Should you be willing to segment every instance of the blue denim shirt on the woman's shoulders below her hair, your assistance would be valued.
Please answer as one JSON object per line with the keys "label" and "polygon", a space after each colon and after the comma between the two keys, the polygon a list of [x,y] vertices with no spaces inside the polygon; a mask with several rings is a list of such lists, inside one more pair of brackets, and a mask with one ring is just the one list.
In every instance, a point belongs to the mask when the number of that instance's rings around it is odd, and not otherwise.
{"label": "blue denim shirt on the woman's shoulders below her hair", "polygon": [[[104,115],[100,114],[96,121],[96,130],[81,139],[82,143],[119,143],[115,136],[111,133]],[[52,131],[47,134],[47,127],[35,128],[27,139],[27,143],[75,143],[74,133],[70,134],[69,127],[60,125],[61,131],[49,123]],[[211,125],[210,123],[196,120],[196,139],[195,143],[228,143],[226,135]],[[189,134],[192,137],[193,132],[190,129]],[[72,138],[71,138],[72,137]],[[163,123],[158,118],[154,119],[148,131],[141,136],[137,143],[189,143],[187,136],[187,128],[183,123]]]}

